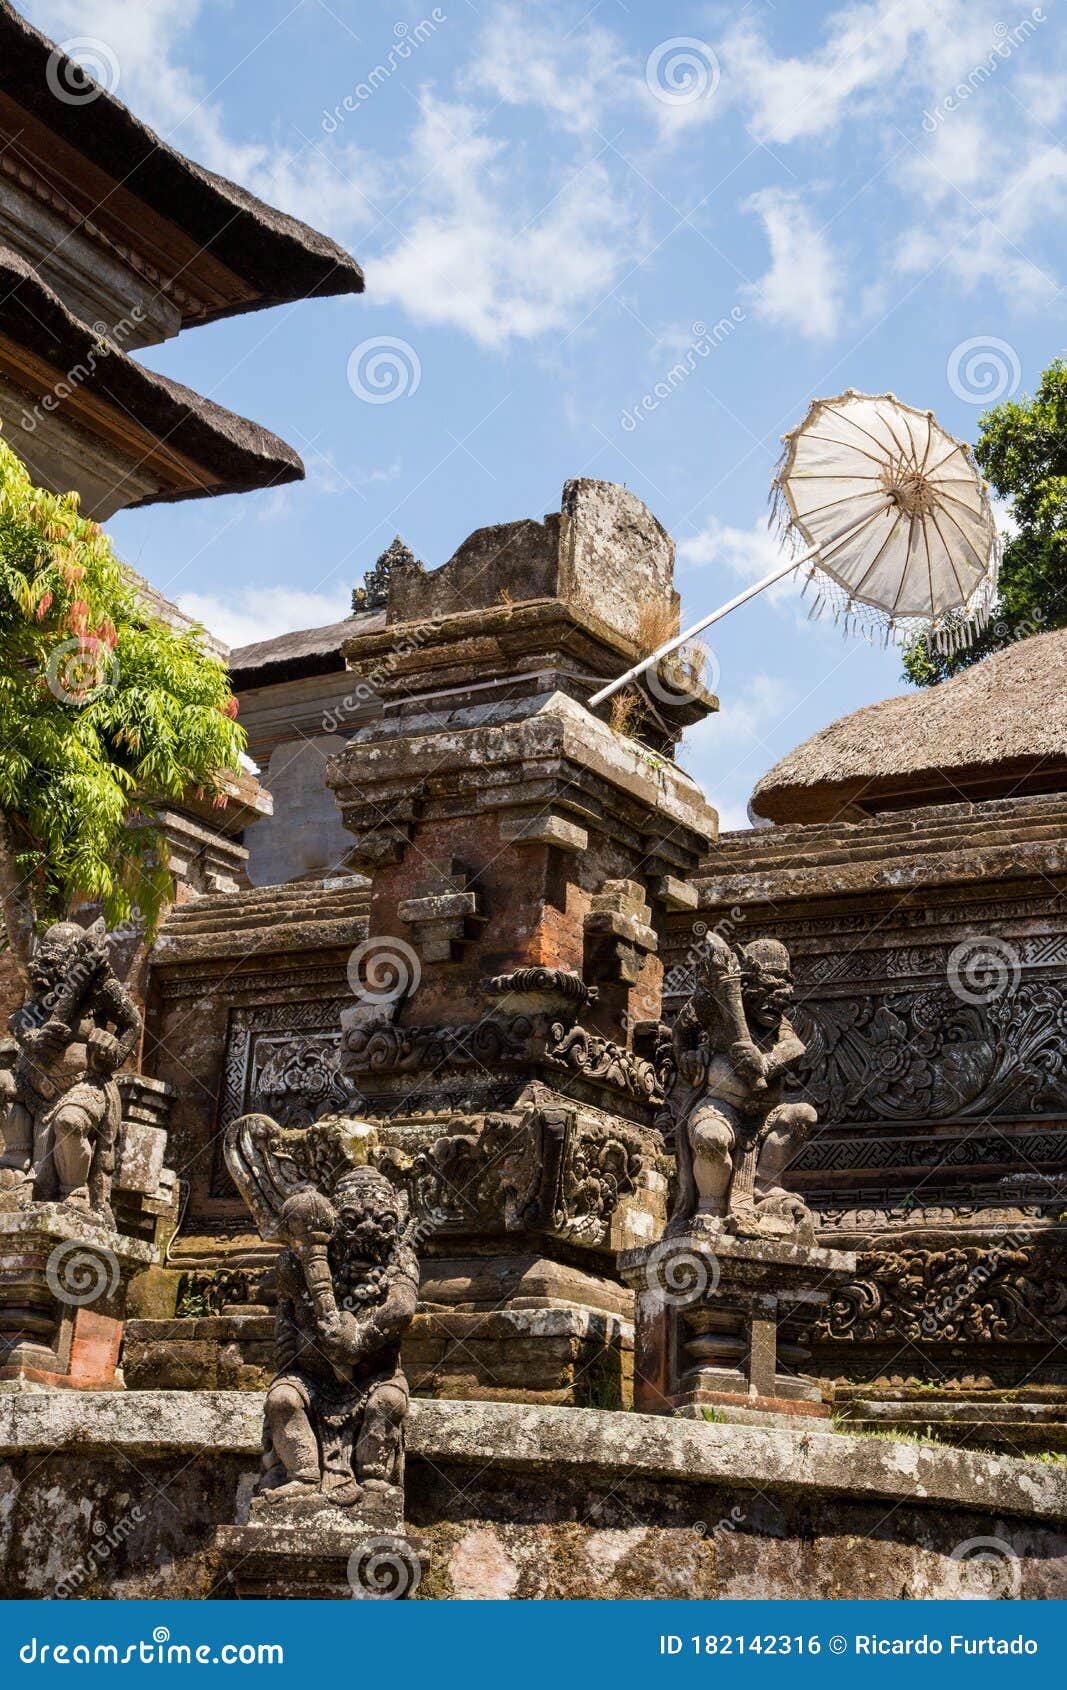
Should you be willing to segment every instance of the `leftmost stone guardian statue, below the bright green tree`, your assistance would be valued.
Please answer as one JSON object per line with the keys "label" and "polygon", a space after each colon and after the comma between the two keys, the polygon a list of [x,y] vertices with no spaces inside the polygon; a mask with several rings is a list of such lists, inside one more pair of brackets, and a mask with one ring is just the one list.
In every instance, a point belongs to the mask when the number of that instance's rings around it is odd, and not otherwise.
{"label": "leftmost stone guardian statue, below the bright green tree", "polygon": [[0,1044],[0,1193],[8,1205],[59,1200],[113,1224],[115,1071],[137,1049],[140,1016],[112,973],[103,921],[51,926],[29,977],[32,995]]}

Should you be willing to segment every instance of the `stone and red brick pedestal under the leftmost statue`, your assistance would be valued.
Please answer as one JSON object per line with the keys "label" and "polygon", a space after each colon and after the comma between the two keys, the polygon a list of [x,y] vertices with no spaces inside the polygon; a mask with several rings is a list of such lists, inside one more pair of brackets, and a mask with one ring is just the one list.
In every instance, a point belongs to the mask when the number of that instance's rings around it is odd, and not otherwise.
{"label": "stone and red brick pedestal under the leftmost statue", "polygon": [[66,1203],[0,1210],[0,1389],[122,1387],[127,1284],[154,1261]]}

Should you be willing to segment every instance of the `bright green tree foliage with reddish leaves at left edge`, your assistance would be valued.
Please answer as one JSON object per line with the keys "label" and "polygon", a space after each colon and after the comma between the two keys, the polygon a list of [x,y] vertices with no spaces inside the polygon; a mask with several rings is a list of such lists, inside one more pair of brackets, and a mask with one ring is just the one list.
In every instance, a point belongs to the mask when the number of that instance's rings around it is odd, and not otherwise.
{"label": "bright green tree foliage with reddish leaves at left edge", "polygon": [[8,941],[100,902],[149,931],[171,896],[154,821],[191,789],[225,806],[245,744],[201,630],[162,622],[76,493],[0,439],[0,896]]}

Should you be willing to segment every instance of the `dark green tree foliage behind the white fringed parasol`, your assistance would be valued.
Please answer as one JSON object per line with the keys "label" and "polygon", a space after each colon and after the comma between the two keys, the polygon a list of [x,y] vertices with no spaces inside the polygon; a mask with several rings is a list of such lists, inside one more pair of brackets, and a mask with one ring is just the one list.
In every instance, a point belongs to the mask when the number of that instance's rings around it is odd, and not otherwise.
{"label": "dark green tree foliage behind the white fringed parasol", "polygon": [[905,652],[905,676],[932,686],[993,651],[1067,624],[1067,365],[1057,358],[1033,399],[988,411],[974,448],[993,490],[1011,500],[1016,532],[1004,546],[989,625],[944,656],[925,639]]}

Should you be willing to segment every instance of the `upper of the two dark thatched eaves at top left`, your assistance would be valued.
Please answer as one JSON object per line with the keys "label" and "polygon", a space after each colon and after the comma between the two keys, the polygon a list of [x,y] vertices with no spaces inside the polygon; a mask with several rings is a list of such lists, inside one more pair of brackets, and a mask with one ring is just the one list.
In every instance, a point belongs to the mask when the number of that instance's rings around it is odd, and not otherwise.
{"label": "upper of the two dark thatched eaves at top left", "polygon": [[[122,49],[122,42],[112,46]],[[37,162],[37,137],[52,134],[61,149],[69,147],[88,161],[90,171],[103,172],[113,184],[103,193],[100,183],[78,184],[63,171],[59,191],[74,210],[91,211],[96,221],[135,226],[135,201],[140,201],[154,220],[181,232],[198,254],[218,260],[245,284],[243,297],[216,299],[188,321],[206,323],[309,294],[362,292],[364,274],[337,242],[167,147],[105,88],[91,100],[56,98],[52,84],[79,86],[74,78],[81,76],[47,35],[8,0],[0,0],[0,98],[25,113],[20,152]],[[191,272],[184,275],[193,289],[194,281]]]}

